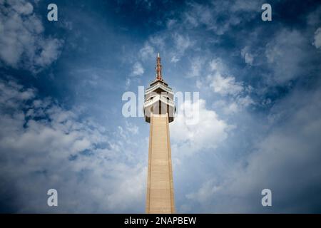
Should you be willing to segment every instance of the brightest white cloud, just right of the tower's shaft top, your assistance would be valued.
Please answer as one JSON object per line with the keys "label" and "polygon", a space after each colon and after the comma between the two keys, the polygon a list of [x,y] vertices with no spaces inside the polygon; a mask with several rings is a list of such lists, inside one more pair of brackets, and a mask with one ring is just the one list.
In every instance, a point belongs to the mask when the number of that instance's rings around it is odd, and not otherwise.
{"label": "brightest white cloud, just right of the tower's shaft top", "polygon": [[[213,110],[205,107],[205,100],[186,100],[178,107],[178,115],[170,125],[175,156],[191,155],[202,149],[215,149],[228,137],[232,126],[220,120]],[[193,118],[197,123],[190,124]]]}

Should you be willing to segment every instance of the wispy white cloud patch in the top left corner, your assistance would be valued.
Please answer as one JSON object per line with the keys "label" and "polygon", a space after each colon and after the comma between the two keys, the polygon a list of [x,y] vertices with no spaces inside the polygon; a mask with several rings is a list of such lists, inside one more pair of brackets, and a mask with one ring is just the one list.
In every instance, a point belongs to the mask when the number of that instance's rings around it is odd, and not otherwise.
{"label": "wispy white cloud patch in the top left corner", "polygon": [[62,41],[44,37],[41,19],[26,1],[0,4],[0,61],[13,68],[26,68],[34,73],[56,61]]}

